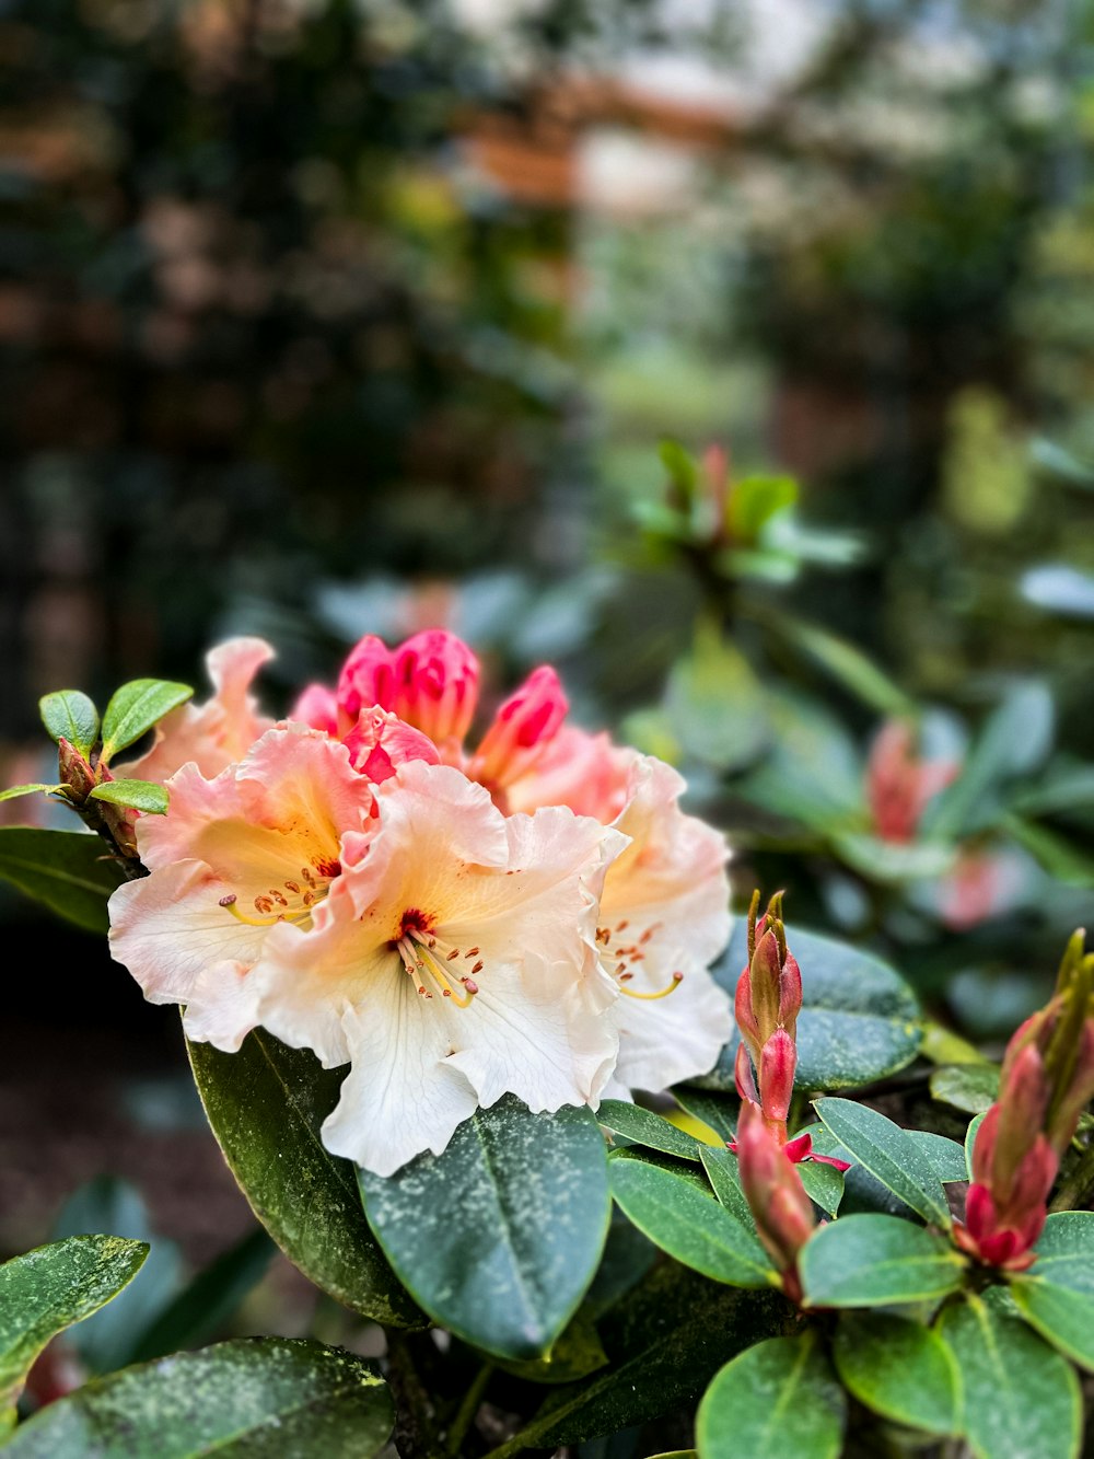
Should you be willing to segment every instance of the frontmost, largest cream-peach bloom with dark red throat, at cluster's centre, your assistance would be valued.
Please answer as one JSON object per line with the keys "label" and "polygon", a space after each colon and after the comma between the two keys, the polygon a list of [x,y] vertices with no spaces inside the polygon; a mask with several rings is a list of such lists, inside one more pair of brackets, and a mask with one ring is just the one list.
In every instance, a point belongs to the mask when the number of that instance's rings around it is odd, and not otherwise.
{"label": "frontmost, largest cream-peach bloom with dark red throat, at cluster's centre", "polygon": [[562,807],[505,817],[420,760],[378,804],[346,900],[267,938],[258,1021],[352,1065],[324,1142],[391,1174],[505,1093],[532,1110],[597,1102],[617,1052],[597,897],[624,837]]}

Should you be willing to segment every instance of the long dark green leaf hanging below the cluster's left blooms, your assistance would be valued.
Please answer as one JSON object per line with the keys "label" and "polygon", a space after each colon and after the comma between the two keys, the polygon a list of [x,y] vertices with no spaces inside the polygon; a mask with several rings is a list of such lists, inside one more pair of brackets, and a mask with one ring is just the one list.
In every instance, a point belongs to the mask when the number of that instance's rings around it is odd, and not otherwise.
{"label": "long dark green leaf hanging below the cluster's left blooms", "polygon": [[238,1053],[190,1043],[209,1123],[251,1210],[284,1255],[337,1301],[394,1326],[424,1319],[388,1266],[360,1210],[357,1176],[319,1126],[343,1069],[255,1029]]}

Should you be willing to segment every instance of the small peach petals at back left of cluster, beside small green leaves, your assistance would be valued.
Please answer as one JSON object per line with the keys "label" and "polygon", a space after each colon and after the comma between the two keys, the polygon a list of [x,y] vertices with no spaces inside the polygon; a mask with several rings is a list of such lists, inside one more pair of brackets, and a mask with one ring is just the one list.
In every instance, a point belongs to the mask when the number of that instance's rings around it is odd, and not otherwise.
{"label": "small peach petals at back left of cluster, beside small green leaves", "polygon": [[273,727],[257,713],[251,683],[274,651],[263,639],[236,638],[219,643],[206,655],[213,697],[203,705],[182,705],[160,719],[156,743],[139,760],[124,766],[125,775],[160,783],[181,766],[194,763],[212,779],[236,760]]}

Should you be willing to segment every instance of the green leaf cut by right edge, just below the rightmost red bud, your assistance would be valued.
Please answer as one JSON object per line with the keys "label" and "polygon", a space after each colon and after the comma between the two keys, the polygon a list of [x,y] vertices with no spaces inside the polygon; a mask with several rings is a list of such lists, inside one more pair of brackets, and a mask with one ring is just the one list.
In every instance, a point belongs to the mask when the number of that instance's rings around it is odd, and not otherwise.
{"label": "green leaf cut by right edge, just below the rightmost red bud", "polygon": [[1030,1271],[1011,1278],[1011,1294],[1043,1338],[1094,1371],[1094,1212],[1050,1215],[1034,1250]]}

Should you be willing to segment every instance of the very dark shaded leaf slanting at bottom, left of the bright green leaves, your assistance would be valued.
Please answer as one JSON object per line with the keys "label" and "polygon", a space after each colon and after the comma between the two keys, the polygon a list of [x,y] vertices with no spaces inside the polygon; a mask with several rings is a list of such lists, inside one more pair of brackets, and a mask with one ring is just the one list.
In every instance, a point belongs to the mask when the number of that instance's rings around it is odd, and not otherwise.
{"label": "very dark shaded leaf slanting at bottom, left of the bright green leaves", "polygon": [[779,1293],[722,1287],[674,1262],[658,1262],[600,1322],[608,1367],[554,1389],[493,1459],[525,1447],[550,1452],[585,1443],[683,1408],[723,1363],[780,1332],[789,1317]]}

